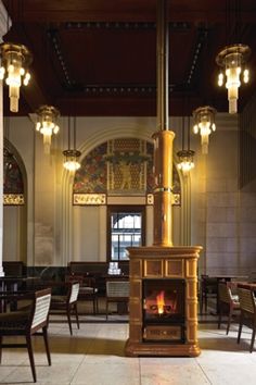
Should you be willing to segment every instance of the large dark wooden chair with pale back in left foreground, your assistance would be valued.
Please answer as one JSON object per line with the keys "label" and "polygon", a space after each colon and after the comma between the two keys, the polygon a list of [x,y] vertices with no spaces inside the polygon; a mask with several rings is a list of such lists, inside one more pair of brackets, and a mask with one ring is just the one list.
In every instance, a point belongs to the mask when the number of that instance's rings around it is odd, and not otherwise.
{"label": "large dark wooden chair with pale back in left foreground", "polygon": [[[35,360],[33,353],[33,335],[42,335],[46,345],[48,363],[51,365],[51,356],[48,344],[48,319],[49,309],[51,302],[51,289],[47,288],[38,290],[33,294],[2,294],[1,299],[10,299],[18,302],[20,300],[29,299],[31,302],[24,309],[16,311],[8,311],[0,314],[0,362],[2,356],[2,348],[27,348],[33,378],[37,381]],[[41,330],[41,332],[38,332]],[[23,335],[26,338],[25,344],[21,343],[8,343],[3,344],[3,337],[5,336],[20,336]]]}

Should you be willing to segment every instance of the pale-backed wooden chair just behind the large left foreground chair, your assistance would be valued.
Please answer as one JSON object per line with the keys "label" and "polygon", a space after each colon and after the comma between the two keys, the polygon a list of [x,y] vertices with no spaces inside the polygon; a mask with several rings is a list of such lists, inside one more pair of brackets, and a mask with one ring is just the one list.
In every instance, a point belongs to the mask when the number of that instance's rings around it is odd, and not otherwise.
{"label": "pale-backed wooden chair just behind the large left foreground chair", "polygon": [[77,299],[79,293],[79,282],[71,282],[68,285],[67,295],[64,296],[52,296],[50,314],[60,314],[60,311],[65,311],[67,316],[67,322],[69,326],[71,335],[72,331],[72,313],[75,312],[77,328],[79,328],[79,320],[77,312]]}

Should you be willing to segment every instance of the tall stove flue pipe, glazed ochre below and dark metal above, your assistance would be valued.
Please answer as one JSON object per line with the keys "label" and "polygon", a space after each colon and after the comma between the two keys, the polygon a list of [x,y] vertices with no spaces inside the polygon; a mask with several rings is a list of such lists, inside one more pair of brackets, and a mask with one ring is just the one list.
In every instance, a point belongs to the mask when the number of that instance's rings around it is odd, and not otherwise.
{"label": "tall stove flue pipe, glazed ochre below and dark metal above", "polygon": [[157,0],[157,132],[154,139],[154,245],[172,246],[172,141],[169,131],[169,29],[165,0]]}

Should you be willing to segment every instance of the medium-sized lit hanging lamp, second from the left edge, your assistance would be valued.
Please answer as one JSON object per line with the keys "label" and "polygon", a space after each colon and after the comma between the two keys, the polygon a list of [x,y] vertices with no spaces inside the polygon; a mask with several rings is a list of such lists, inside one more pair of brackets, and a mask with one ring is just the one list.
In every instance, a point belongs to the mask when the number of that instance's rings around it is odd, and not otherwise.
{"label": "medium-sized lit hanging lamp, second from the left edge", "polygon": [[60,111],[53,105],[41,105],[36,113],[36,131],[43,135],[44,152],[50,153],[52,134],[57,134],[60,131],[57,125]]}

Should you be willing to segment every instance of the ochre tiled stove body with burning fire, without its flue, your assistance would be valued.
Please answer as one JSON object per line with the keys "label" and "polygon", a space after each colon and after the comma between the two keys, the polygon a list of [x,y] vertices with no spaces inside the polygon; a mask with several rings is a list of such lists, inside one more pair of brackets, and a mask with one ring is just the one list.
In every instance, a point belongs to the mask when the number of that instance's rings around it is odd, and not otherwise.
{"label": "ochre tiled stove body with burning fire, without its flue", "polygon": [[201,247],[136,247],[130,256],[128,356],[200,355],[197,259]]}

